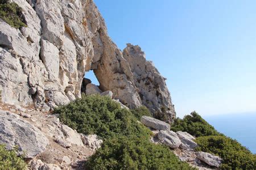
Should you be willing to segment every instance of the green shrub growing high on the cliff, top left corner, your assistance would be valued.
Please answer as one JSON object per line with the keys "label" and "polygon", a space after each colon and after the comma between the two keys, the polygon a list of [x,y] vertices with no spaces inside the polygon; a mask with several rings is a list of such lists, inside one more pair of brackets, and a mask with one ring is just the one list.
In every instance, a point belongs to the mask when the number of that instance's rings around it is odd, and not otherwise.
{"label": "green shrub growing high on the cliff, top left corner", "polygon": [[16,3],[7,3],[6,0],[0,1],[0,18],[14,28],[26,27],[22,18],[22,8]]}

